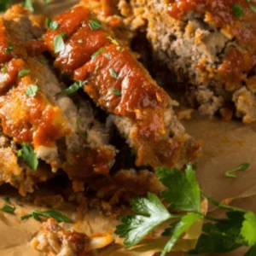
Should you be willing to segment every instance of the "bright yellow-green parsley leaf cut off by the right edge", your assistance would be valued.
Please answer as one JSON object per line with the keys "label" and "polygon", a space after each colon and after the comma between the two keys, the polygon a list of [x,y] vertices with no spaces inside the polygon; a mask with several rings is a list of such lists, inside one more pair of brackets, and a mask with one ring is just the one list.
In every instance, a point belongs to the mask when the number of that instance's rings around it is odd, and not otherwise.
{"label": "bright yellow-green parsley leaf cut off by the right edge", "polygon": [[248,246],[256,244],[256,216],[253,212],[244,214],[244,222],[241,227],[241,236],[247,241]]}

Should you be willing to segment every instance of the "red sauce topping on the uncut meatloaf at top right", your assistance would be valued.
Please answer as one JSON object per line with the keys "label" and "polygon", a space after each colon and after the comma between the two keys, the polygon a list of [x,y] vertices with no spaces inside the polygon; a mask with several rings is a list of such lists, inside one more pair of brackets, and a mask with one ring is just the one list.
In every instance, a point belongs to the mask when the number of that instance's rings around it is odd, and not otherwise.
{"label": "red sauce topping on the uncut meatloaf at top right", "polygon": [[[233,5],[242,6],[243,15],[236,17]],[[255,2],[250,4],[255,5]],[[206,20],[224,28],[236,37],[239,44],[256,50],[256,15],[246,0],[169,0],[168,12],[178,20],[190,11],[206,13]]]}

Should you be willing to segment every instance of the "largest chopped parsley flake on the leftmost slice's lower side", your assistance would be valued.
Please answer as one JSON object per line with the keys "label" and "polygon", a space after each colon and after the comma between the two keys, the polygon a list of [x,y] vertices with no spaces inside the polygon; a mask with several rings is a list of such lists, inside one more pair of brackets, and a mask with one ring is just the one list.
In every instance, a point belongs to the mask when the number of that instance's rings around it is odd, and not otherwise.
{"label": "largest chopped parsley flake on the leftmost slice's lower side", "polygon": [[21,157],[26,166],[29,166],[32,170],[38,170],[38,157],[29,143],[22,143],[22,148],[18,151],[18,157]]}

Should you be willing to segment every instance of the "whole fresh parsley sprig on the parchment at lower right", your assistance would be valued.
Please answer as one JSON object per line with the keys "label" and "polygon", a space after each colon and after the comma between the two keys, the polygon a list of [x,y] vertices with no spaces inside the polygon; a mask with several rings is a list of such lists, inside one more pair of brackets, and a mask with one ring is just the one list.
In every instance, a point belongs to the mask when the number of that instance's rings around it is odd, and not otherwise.
{"label": "whole fresh parsley sprig on the parchment at lower right", "polygon": [[[157,168],[156,174],[160,182],[166,186],[161,194],[148,193],[148,198],[137,198],[131,201],[131,207],[137,215],[120,218],[122,224],[115,233],[125,238],[125,246],[133,247],[143,240],[149,232],[165,221],[170,221],[162,236],[170,236],[161,252],[161,256],[172,251],[177,240],[183,236],[197,221],[204,220],[202,234],[193,250],[189,253],[228,253],[238,247],[250,247],[245,256],[256,255],[256,215],[237,207],[218,203],[212,197],[201,192],[191,165],[185,172],[176,168]],[[204,195],[215,206],[226,210],[222,219],[210,218],[201,213],[201,196]],[[162,201],[172,210],[183,214],[173,215]],[[210,221],[209,221],[210,220]],[[174,222],[173,222],[174,221]]]}

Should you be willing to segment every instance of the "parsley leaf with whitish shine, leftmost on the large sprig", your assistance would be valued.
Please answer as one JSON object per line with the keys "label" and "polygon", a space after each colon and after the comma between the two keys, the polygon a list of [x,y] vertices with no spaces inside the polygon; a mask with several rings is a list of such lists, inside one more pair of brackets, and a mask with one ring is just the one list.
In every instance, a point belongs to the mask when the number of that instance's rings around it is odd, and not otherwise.
{"label": "parsley leaf with whitish shine, leftmost on the large sprig", "polygon": [[125,246],[132,247],[143,240],[151,230],[172,218],[157,195],[148,193],[148,198],[137,198],[131,201],[134,212],[142,215],[120,218],[123,224],[117,226],[115,234],[125,238]]}

